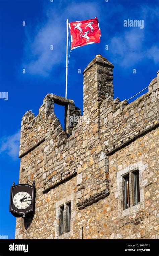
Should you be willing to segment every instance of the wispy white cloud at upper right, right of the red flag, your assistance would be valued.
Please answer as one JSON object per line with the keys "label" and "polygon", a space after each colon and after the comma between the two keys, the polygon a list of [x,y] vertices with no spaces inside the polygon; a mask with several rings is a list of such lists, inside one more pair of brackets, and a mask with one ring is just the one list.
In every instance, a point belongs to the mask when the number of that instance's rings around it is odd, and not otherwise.
{"label": "wispy white cloud at upper right, right of the red flag", "polygon": [[[154,63],[159,61],[159,47],[157,42],[148,46],[147,40],[149,36],[154,36],[153,34],[151,35],[151,29],[152,26],[155,26],[155,19],[158,18],[158,11],[158,7],[154,9],[147,5],[143,5],[138,10],[136,9],[136,15],[138,13],[138,17],[140,17],[138,19],[140,20],[142,18],[144,20],[144,29],[140,29],[139,27],[125,28],[123,33],[110,39],[109,49],[112,54],[113,63],[129,68],[146,59],[149,59]],[[148,32],[149,34],[146,34]]]}

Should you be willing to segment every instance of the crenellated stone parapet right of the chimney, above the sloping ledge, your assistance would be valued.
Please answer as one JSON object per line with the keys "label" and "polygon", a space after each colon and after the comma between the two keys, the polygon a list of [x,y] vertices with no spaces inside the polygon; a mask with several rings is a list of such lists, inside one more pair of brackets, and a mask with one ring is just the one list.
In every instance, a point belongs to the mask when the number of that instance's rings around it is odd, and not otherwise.
{"label": "crenellated stone parapet right of the chimney, above the sloping ledge", "polygon": [[[119,102],[117,98],[111,102],[106,112],[101,109],[101,139],[107,141],[105,143],[107,153],[119,147],[122,144],[121,141],[133,139],[134,136],[158,123],[159,109],[158,103],[152,104],[153,93],[146,93],[130,104],[126,100]],[[156,102],[158,102],[157,97]],[[103,125],[107,125],[111,130],[105,133]]]}

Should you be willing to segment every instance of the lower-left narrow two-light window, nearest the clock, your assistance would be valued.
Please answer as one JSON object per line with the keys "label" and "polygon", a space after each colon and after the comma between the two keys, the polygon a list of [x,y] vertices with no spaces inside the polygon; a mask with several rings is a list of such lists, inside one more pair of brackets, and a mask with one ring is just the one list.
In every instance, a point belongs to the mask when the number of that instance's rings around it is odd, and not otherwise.
{"label": "lower-left narrow two-light window, nearest the clock", "polygon": [[71,230],[71,203],[66,203],[60,207],[59,234],[70,232]]}

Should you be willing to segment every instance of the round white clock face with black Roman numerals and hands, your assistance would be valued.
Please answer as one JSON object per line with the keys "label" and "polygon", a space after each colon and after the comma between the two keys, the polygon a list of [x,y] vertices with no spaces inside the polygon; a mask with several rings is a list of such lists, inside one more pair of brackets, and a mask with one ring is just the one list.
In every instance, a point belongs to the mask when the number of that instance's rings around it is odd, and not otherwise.
{"label": "round white clock face with black Roman numerals and hands", "polygon": [[27,209],[32,202],[32,198],[29,193],[20,191],[13,197],[13,204],[18,209]]}

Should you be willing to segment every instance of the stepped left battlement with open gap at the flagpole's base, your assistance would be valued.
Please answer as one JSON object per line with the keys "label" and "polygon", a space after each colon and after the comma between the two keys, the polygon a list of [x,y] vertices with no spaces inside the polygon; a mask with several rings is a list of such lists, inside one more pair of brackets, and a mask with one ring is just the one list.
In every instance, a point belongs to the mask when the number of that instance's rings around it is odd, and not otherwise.
{"label": "stepped left battlement with open gap at the flagpole's base", "polygon": [[[54,104],[65,106],[64,130],[54,113]],[[77,124],[76,120],[70,118],[73,115],[81,116],[81,110],[75,106],[73,100],[47,94],[37,116],[29,110],[22,117],[19,157],[39,145],[53,133],[60,143],[66,143],[72,129]]]}

